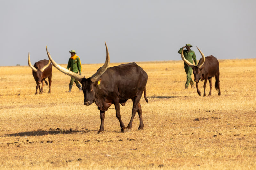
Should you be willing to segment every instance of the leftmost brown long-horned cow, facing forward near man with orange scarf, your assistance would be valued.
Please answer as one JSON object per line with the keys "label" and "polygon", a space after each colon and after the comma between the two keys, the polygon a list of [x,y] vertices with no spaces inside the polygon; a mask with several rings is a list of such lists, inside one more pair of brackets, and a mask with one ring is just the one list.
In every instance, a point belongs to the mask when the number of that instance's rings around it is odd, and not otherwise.
{"label": "leftmost brown long-horned cow, facing forward near man with orange scarf", "polygon": [[[37,89],[39,88],[39,94],[43,93],[43,87],[44,87],[44,82],[46,85],[48,85],[47,81],[45,80],[48,77],[49,81],[49,91],[48,93],[51,92],[51,84],[52,84],[52,64],[50,60],[40,60],[32,66],[30,62],[30,55],[28,53],[28,65],[29,67],[32,68],[32,74],[33,77],[36,81],[36,93],[37,94]],[[40,88],[40,84],[42,83],[42,87]]]}

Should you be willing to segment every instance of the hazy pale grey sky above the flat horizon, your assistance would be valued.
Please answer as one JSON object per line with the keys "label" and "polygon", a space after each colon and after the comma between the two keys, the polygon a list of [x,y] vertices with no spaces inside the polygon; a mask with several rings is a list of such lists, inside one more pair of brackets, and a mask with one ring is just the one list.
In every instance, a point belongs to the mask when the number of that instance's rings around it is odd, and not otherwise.
{"label": "hazy pale grey sky above the flat horizon", "polygon": [[1,0],[0,66],[181,60],[186,43],[217,59],[255,58],[255,0]]}

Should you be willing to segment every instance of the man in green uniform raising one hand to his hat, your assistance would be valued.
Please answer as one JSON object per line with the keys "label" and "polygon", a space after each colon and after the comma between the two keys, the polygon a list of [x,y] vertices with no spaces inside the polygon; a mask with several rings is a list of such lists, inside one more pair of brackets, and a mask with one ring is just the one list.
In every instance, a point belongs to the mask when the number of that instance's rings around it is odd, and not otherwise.
{"label": "man in green uniform raising one hand to his hat", "polygon": [[[195,65],[197,66],[197,61],[196,61],[196,54],[194,51],[190,50],[190,47],[192,47],[191,44],[186,44],[186,49],[187,50],[183,50],[183,55],[185,57],[185,59],[187,59],[189,62],[193,63],[193,60],[195,62]],[[181,54],[183,47],[180,48],[180,50],[178,51],[179,54]],[[191,84],[191,88],[195,88],[194,86],[194,82],[191,79],[191,74],[193,73],[193,69],[191,67],[189,67],[185,62],[184,62],[184,68],[185,68],[185,72],[187,74],[187,81],[185,84],[185,89],[188,89],[189,83]]]}

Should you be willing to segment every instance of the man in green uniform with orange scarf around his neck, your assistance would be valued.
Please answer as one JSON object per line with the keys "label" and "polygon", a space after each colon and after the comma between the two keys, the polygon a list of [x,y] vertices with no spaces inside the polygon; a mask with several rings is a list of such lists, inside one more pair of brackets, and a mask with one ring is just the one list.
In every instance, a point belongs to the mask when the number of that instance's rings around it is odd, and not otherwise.
{"label": "man in green uniform with orange scarf around his neck", "polygon": [[[71,57],[68,60],[67,69],[70,68],[70,71],[73,71],[75,73],[78,73],[78,71],[79,71],[79,73],[81,75],[81,62],[80,62],[80,58],[76,55],[76,51],[75,50],[71,50],[71,51],[69,51],[69,53],[71,54]],[[82,91],[82,87],[79,84],[79,82],[76,79],[71,77],[71,80],[70,80],[70,83],[69,83],[69,91],[68,92],[71,92],[71,89],[72,89],[74,81],[76,83],[76,86],[79,88],[79,90]]]}

